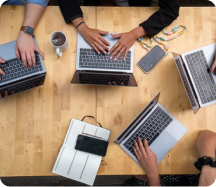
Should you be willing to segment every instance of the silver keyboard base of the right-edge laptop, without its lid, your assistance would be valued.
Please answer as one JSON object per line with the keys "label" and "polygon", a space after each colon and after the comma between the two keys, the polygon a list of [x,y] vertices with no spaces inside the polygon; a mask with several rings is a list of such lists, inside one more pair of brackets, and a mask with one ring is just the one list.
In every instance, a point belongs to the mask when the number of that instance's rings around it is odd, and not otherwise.
{"label": "silver keyboard base of the right-edge laptop, without its lid", "polygon": [[[216,75],[210,72],[215,58],[215,51],[216,43],[213,43],[181,55],[200,107],[216,103]],[[195,55],[194,59],[191,55]],[[196,57],[197,55],[198,58]],[[198,68],[193,67],[199,65],[200,59],[202,59],[203,69],[196,72]],[[193,60],[193,63],[191,63],[191,60]],[[198,82],[196,81],[197,78],[200,79]]]}

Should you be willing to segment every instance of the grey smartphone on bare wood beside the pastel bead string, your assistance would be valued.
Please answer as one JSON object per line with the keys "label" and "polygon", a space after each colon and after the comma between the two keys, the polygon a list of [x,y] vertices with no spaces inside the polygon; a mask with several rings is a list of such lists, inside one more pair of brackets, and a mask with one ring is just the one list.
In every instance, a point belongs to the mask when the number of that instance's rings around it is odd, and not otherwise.
{"label": "grey smartphone on bare wood beside the pastel bead string", "polygon": [[145,72],[148,73],[163,57],[166,56],[166,52],[161,49],[159,45],[155,45],[140,61],[137,65]]}

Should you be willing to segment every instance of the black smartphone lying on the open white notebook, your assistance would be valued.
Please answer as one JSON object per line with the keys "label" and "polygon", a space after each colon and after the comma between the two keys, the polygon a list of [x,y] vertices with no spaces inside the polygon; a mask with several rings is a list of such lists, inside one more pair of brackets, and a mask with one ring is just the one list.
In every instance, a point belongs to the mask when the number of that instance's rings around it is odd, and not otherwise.
{"label": "black smartphone lying on the open white notebook", "polygon": [[77,137],[75,149],[100,156],[105,156],[108,143],[108,141],[102,139],[79,134]]}

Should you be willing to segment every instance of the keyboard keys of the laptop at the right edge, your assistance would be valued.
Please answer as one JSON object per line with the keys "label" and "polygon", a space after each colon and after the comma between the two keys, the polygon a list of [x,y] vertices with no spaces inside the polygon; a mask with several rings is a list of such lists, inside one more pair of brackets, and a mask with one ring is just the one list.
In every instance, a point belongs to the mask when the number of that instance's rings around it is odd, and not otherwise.
{"label": "keyboard keys of the laptop at the right edge", "polygon": [[216,100],[216,85],[203,50],[185,56],[202,104]]}

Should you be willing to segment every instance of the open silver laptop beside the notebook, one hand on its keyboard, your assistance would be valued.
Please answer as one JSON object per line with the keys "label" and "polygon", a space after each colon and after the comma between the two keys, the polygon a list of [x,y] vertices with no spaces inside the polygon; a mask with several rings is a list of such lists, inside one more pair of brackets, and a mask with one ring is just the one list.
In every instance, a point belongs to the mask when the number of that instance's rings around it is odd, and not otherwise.
{"label": "open silver laptop beside the notebook, one hand on its keyboard", "polygon": [[138,137],[147,140],[159,163],[184,136],[187,129],[159,103],[160,92],[115,139],[119,146],[139,165],[134,153]]}

